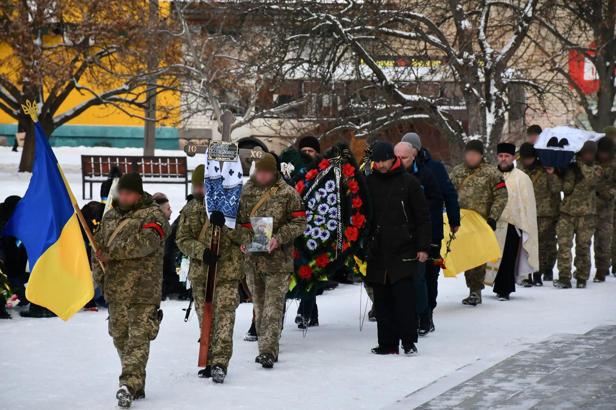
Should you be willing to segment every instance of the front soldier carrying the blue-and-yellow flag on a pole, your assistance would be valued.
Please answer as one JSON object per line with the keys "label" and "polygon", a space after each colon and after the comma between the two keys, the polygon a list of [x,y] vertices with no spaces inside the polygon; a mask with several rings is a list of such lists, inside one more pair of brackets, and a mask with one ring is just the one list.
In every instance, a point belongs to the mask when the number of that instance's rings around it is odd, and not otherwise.
{"label": "front soldier carrying the blue-and-yellow flag on a pole", "polygon": [[[92,275],[109,303],[109,335],[122,363],[118,406],[145,397],[145,365],[150,341],[158,334],[163,284],[164,240],[171,227],[163,211],[144,192],[138,173],[118,182],[118,197],[94,232],[99,251]],[[114,237],[115,236],[115,237]],[[105,262],[105,272],[98,262]]]}

